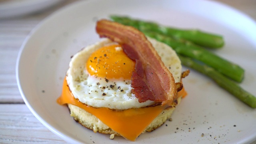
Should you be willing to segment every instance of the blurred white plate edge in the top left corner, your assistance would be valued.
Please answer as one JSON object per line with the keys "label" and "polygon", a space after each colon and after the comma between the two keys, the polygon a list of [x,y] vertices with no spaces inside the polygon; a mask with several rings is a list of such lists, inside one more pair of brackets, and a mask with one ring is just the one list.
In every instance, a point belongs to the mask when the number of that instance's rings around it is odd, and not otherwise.
{"label": "blurred white plate edge in the top left corner", "polygon": [[44,10],[62,0],[0,0],[0,18],[11,18]]}

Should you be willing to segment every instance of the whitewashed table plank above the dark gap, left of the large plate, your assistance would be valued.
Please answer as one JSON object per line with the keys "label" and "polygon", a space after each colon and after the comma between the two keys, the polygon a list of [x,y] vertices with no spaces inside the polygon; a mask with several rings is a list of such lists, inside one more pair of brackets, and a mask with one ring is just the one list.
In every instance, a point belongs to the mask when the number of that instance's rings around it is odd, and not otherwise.
{"label": "whitewashed table plank above the dark gap, left of the large plate", "polygon": [[44,18],[75,1],[64,1],[41,13],[0,20],[0,103],[24,103],[15,75],[20,47],[31,30]]}

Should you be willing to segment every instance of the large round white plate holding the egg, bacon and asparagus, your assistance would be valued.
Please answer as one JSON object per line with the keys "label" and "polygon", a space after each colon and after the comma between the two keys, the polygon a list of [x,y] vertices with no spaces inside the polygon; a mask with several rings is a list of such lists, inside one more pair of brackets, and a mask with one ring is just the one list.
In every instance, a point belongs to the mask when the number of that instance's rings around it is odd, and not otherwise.
{"label": "large round white plate holding the egg, bacon and asparagus", "polygon": [[256,110],[194,70],[184,79],[188,96],[176,108],[172,122],[142,134],[136,142],[122,137],[110,140],[109,135],[94,133],[76,123],[68,108],[58,105],[56,99],[61,94],[70,56],[99,40],[95,22],[110,14],[223,35],[226,45],[214,52],[246,70],[240,85],[256,95],[256,23],[241,12],[206,0],[88,0],[46,18],[20,51],[18,86],[28,108],[42,124],[70,143],[242,144],[256,140]]}

